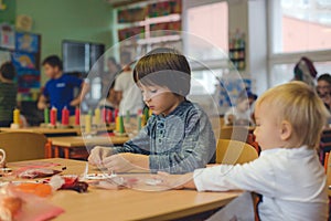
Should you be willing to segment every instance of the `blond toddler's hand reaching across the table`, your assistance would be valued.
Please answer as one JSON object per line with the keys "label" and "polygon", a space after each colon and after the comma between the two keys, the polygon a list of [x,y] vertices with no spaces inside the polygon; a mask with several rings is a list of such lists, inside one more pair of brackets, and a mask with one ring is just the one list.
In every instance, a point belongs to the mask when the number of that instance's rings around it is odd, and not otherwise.
{"label": "blond toddler's hand reaching across the table", "polygon": [[195,189],[193,172],[185,175],[169,175],[168,172],[159,171],[156,179],[161,180],[160,186],[169,187],[169,189]]}

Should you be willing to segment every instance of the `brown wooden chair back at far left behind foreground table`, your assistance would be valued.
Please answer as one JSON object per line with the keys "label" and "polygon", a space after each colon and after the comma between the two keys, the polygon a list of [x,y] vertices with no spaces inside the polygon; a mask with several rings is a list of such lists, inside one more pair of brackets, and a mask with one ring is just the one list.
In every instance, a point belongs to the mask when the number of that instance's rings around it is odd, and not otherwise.
{"label": "brown wooden chair back at far left behind foreground table", "polygon": [[44,158],[46,141],[44,135],[36,133],[0,133],[0,148],[6,151],[8,162]]}

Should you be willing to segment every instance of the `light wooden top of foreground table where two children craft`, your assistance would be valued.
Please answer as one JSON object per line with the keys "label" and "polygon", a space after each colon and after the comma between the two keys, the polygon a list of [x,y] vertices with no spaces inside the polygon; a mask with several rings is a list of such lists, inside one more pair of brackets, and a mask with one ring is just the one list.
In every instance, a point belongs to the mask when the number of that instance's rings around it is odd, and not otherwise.
{"label": "light wooden top of foreground table where two children craft", "polygon": [[[70,159],[45,159],[66,166],[64,173],[81,175],[85,162]],[[9,164],[10,166],[10,164]],[[61,168],[60,167],[60,168]],[[89,172],[96,170],[90,168]],[[89,187],[87,193],[57,191],[51,201],[65,213],[55,220],[171,220],[225,206],[241,192],[196,192],[194,190],[139,191],[102,190]]]}

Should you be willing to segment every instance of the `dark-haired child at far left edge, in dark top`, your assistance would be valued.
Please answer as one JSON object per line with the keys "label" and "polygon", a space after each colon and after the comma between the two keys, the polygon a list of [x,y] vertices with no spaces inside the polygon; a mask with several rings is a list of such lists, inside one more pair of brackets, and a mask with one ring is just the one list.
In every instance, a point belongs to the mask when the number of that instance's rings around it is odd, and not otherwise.
{"label": "dark-haired child at far left edge, in dark top", "polygon": [[18,86],[14,84],[15,67],[6,62],[0,67],[0,126],[9,127],[17,106]]}

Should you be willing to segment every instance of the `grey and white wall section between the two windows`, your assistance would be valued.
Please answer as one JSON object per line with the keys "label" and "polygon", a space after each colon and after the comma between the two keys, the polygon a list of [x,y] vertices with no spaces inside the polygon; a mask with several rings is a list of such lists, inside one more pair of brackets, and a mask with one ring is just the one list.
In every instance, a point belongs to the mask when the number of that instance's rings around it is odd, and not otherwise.
{"label": "grey and white wall section between the two windows", "polygon": [[237,29],[246,34],[246,69],[241,74],[261,94],[268,87],[266,0],[228,0],[228,31]]}

